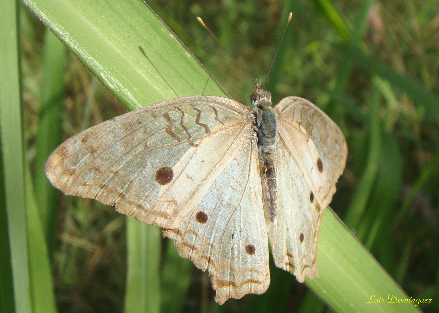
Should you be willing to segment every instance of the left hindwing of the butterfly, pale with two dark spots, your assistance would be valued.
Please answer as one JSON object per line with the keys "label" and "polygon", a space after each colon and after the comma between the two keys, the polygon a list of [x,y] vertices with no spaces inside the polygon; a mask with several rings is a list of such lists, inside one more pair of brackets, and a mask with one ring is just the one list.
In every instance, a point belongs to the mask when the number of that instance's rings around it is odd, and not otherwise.
{"label": "left hindwing of the butterfly, pale with two dark spots", "polygon": [[209,270],[222,304],[262,294],[270,284],[263,214],[257,139],[247,136],[180,227],[163,234],[174,239],[180,256]]}

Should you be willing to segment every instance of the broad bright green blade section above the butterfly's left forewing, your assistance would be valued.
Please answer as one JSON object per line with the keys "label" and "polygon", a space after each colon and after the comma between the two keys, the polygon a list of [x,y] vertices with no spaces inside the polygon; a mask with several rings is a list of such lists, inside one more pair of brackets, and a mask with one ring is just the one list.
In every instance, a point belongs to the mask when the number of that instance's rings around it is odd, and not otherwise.
{"label": "broad bright green blade section above the butterfly's left forewing", "polygon": [[140,0],[25,4],[129,110],[178,96],[225,96]]}

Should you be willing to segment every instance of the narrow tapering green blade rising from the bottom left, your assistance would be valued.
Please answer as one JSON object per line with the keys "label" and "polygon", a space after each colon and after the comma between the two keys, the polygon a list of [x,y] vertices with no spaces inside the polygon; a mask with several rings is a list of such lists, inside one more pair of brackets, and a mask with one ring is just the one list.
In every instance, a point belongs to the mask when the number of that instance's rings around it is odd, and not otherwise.
{"label": "narrow tapering green blade rising from the bottom left", "polygon": [[56,313],[47,245],[33,194],[32,178],[28,169],[25,173],[25,188],[32,312]]}

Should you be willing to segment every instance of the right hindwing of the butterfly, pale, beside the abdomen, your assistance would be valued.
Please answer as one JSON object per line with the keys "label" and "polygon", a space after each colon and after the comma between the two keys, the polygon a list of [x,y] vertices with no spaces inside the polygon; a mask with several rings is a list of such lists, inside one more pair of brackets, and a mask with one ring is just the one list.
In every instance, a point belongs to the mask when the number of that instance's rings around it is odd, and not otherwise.
{"label": "right hindwing of the butterfly, pale, beside the abdomen", "polygon": [[277,136],[275,157],[279,207],[277,220],[267,227],[271,253],[277,267],[303,282],[318,277],[317,239],[323,209],[285,142]]}

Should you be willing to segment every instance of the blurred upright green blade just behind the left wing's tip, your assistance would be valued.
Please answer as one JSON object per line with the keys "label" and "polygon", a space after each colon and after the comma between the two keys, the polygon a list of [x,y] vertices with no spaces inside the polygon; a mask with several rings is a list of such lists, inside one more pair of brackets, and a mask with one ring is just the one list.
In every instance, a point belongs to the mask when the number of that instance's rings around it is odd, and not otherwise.
{"label": "blurred upright green blade just behind the left wing's tip", "polygon": [[43,86],[36,138],[35,196],[49,252],[54,249],[59,191],[47,180],[44,162],[62,140],[65,46],[48,29],[44,36]]}

